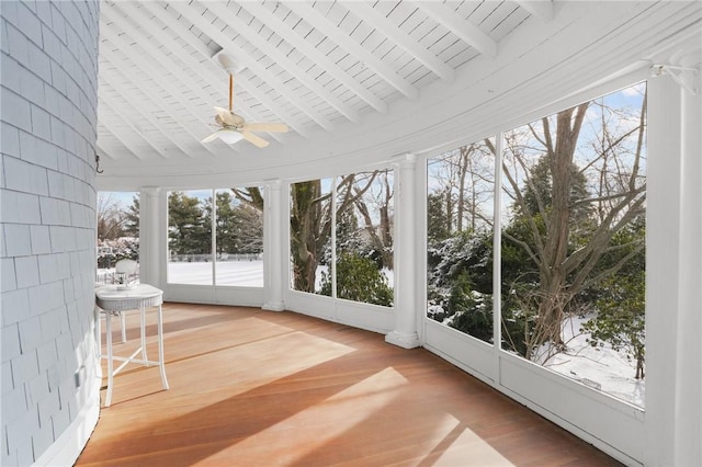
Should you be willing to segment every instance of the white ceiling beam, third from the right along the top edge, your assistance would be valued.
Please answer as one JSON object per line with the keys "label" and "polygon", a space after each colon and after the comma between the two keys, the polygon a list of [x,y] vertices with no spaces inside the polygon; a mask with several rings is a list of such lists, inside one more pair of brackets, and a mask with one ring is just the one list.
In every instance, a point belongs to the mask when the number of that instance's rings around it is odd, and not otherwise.
{"label": "white ceiling beam, third from the right along the top edge", "polygon": [[373,26],[383,36],[393,41],[398,47],[414,56],[439,78],[446,82],[453,82],[455,78],[453,68],[440,60],[435,55],[424,48],[408,34],[404,33],[396,24],[378,13],[370,3],[346,0],[341,4],[349,9],[349,11],[355,14],[360,20]]}

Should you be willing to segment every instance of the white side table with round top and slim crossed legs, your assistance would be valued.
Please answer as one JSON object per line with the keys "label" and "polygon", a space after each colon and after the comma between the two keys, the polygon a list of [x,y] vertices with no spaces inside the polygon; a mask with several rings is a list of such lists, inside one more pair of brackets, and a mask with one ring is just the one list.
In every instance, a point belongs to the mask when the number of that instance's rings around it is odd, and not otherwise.
{"label": "white side table with round top and slim crossed legs", "polygon": [[[161,383],[163,389],[168,389],[168,380],[166,379],[166,367],[163,364],[163,312],[161,304],[163,303],[163,291],[148,284],[137,284],[133,288],[121,288],[117,285],[104,285],[95,288],[95,303],[98,307],[105,311],[105,337],[107,345],[107,397],[105,398],[105,407],[112,403],[112,387],[114,376],[129,363],[140,365],[159,365],[161,371]],[[149,361],[146,356],[146,309],[158,307],[157,312],[157,330],[158,330],[158,361]],[[116,356],[112,352],[112,329],[110,318],[112,315],[123,315],[127,310],[138,309],[141,315],[141,345],[129,356]],[[137,354],[141,354],[141,358],[136,358]],[[102,355],[105,357],[105,355]],[[120,361],[122,364],[113,369],[113,361]]]}

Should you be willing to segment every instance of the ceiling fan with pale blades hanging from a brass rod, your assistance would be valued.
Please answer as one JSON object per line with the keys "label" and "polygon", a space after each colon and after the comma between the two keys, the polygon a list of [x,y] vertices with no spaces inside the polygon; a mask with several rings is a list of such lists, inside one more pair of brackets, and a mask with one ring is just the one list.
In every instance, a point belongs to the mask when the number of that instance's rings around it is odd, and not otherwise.
{"label": "ceiling fan with pale blades hanging from a brass rod", "polygon": [[[223,65],[229,65],[228,60],[219,57]],[[254,135],[253,132],[268,133],[286,133],[287,125],[284,123],[247,123],[241,115],[237,115],[231,111],[233,92],[234,92],[234,72],[230,66],[225,66],[229,73],[229,109],[215,106],[215,123],[219,127],[215,133],[204,138],[201,143],[210,143],[216,138],[222,139],[228,145],[233,145],[241,139],[253,144],[259,148],[264,148],[269,141]]]}

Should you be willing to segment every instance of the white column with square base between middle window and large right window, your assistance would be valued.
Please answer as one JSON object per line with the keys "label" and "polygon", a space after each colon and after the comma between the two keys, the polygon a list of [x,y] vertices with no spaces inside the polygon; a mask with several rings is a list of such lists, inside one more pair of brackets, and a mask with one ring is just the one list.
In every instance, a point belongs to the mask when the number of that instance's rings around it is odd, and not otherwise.
{"label": "white column with square base between middle window and large right window", "polygon": [[385,341],[405,349],[419,346],[417,334],[417,223],[414,155],[405,155],[397,178],[395,210],[395,330]]}

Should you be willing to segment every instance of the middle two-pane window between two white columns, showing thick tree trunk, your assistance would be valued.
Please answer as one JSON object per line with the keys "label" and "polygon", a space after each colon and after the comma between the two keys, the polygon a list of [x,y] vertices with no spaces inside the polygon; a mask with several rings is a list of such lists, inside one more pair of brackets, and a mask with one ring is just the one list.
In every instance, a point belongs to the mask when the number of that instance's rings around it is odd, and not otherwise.
{"label": "middle two-pane window between two white columns, showing thick tree trunk", "polygon": [[291,186],[295,291],[393,306],[392,170]]}

